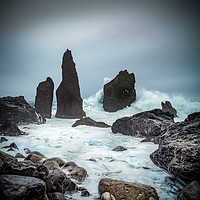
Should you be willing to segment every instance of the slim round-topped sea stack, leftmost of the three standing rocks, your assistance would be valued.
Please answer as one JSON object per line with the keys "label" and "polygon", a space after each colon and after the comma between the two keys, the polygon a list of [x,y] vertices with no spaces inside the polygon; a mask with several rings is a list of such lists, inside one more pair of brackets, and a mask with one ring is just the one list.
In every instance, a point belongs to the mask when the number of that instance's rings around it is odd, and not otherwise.
{"label": "slim round-topped sea stack, leftmost of the three standing rocks", "polygon": [[44,118],[51,118],[54,83],[50,77],[39,83],[35,97],[35,110]]}

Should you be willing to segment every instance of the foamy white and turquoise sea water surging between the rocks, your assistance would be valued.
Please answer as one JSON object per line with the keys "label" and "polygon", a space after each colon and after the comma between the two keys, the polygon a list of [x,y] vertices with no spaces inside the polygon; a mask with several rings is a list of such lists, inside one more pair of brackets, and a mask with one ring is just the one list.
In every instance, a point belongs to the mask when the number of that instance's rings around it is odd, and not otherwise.
{"label": "foamy white and turquoise sea water surging between the rocks", "polygon": [[[170,96],[159,91],[141,90],[137,94],[137,101],[130,107],[115,113],[103,110],[103,91],[83,100],[86,115],[96,121],[103,121],[109,125],[121,117],[131,116],[138,112],[161,108],[161,101],[170,101],[178,112],[176,121],[184,120],[188,114],[200,111],[200,102],[194,102],[183,96]],[[29,102],[33,105],[33,102]],[[164,170],[156,167],[149,155],[158,148],[153,143],[141,143],[143,138],[113,134],[110,128],[78,126],[73,128],[76,119],[55,118],[56,103],[53,104],[52,118],[42,125],[30,124],[20,126],[29,135],[7,137],[8,142],[2,146],[15,142],[19,151],[9,152],[15,155],[24,153],[28,147],[32,151],[39,151],[47,157],[60,157],[65,161],[74,161],[84,167],[88,177],[79,186],[87,188],[90,197],[81,197],[80,193],[72,195],[74,199],[95,199],[99,197],[98,182],[101,178],[113,178],[134,183],[148,184],[157,190],[161,200],[176,199],[176,194],[182,189],[178,181],[174,181]],[[112,151],[116,146],[124,146],[128,150]],[[6,149],[2,149],[6,152]]]}

